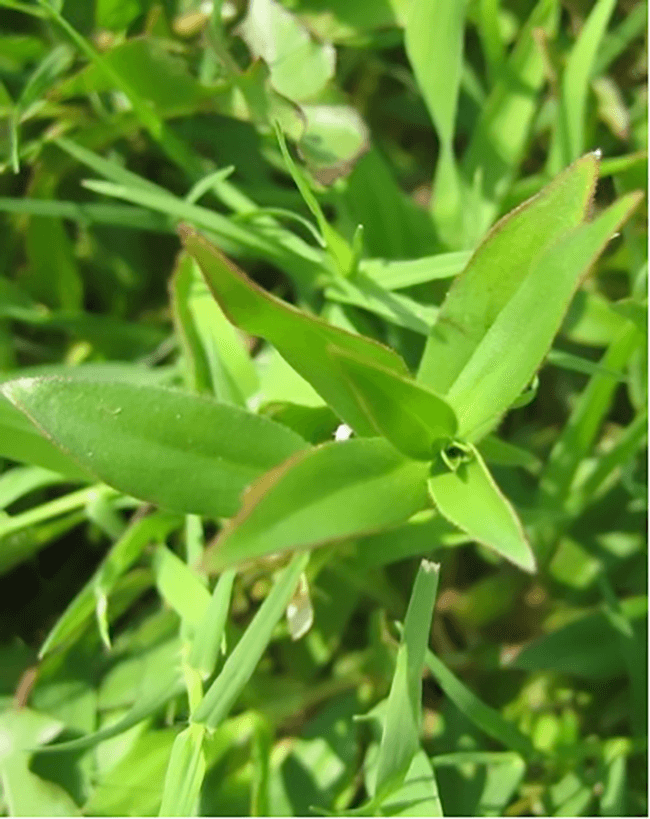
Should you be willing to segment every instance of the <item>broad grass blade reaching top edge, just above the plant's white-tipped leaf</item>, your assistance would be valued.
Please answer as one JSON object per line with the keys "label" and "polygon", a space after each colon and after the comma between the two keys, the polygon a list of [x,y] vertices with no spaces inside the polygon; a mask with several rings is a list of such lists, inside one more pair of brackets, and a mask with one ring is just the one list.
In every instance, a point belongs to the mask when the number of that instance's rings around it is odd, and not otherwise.
{"label": "broad grass blade reaching top edge, just above the plant's white-tipped leaf", "polygon": [[472,129],[463,158],[464,175],[477,196],[473,207],[468,207],[464,225],[470,247],[498,215],[500,203],[524,159],[539,92],[547,77],[539,32],[553,41],[560,12],[558,0],[539,0]]}

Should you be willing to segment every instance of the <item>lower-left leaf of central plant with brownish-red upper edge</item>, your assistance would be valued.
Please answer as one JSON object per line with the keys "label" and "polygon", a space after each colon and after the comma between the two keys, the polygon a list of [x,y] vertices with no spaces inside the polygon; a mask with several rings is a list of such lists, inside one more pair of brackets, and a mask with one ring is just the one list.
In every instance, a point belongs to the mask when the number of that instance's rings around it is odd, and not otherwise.
{"label": "lower-left leaf of central plant with brownish-red upper edge", "polygon": [[245,493],[243,506],[206,550],[224,566],[384,529],[427,505],[428,464],[381,438],[332,441],[296,453]]}

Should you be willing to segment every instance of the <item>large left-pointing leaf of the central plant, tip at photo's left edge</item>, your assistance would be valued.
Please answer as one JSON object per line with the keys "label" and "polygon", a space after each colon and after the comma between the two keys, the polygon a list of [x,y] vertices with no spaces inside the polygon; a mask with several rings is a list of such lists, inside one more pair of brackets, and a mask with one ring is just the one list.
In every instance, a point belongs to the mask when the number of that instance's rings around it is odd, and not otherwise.
{"label": "large left-pointing leaf of the central plant, tip at photo's left edge", "polygon": [[1,389],[84,470],[178,512],[235,514],[249,483],[307,446],[288,427],[179,390],[59,377]]}

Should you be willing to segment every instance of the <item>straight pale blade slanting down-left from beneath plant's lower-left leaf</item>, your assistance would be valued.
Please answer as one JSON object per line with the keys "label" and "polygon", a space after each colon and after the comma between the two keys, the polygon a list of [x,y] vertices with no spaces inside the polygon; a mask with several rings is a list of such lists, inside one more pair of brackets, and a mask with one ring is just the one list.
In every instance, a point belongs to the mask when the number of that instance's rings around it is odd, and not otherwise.
{"label": "straight pale blade slanting down-left from beneath plant's lower-left leaf", "polygon": [[262,654],[271,641],[273,629],[284,614],[309,555],[295,555],[276,580],[268,597],[226,660],[221,673],[212,683],[192,721],[216,728],[222,722],[250,679]]}

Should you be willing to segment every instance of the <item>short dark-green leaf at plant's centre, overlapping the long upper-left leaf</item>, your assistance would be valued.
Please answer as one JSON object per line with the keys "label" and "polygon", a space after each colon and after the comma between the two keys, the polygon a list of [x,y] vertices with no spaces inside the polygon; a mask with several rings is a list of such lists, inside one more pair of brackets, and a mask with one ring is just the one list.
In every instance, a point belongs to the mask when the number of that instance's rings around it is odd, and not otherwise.
{"label": "short dark-green leaf at plant's centre, overlapping the long upper-left leaf", "polygon": [[456,432],[456,416],[440,396],[397,373],[330,348],[376,431],[404,455],[432,460]]}

